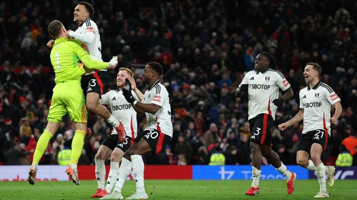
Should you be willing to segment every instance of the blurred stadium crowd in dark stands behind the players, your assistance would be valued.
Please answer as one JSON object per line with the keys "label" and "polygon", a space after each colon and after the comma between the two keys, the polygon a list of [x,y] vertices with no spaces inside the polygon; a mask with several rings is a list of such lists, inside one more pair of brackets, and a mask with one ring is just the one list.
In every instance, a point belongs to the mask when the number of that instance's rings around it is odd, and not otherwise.
{"label": "blurred stadium crowd in dark stands behind the players", "polygon": [[[307,62],[317,62],[322,66],[321,81],[340,96],[343,107],[338,125],[331,125],[322,160],[334,165],[342,143],[357,164],[355,1],[91,3],[95,8],[92,20],[100,31],[102,58],[110,60],[117,54],[119,60],[116,69],[108,70],[107,91],[116,89],[120,67],[136,72],[136,84],[143,93],[146,88],[140,68],[132,64],[155,61],[164,67],[161,83],[170,94],[174,136],[158,156],[143,157],[145,163],[208,164],[213,153],[222,153],[225,164],[250,164],[247,95],[237,99],[235,90],[244,74],[253,69],[257,54],[267,51],[294,91],[294,97],[278,108],[272,128],[272,149],[281,161],[296,164],[303,125],[296,123],[282,132],[277,125],[298,112],[299,90],[306,86],[303,68]],[[67,30],[76,30],[72,22],[76,5],[77,1],[65,4],[54,0],[0,3],[1,164],[31,163],[36,140],[46,127],[55,85],[51,49],[46,47],[51,39],[47,26],[56,19]],[[141,132],[146,118],[139,116],[137,120]],[[94,163],[96,151],[112,130],[104,119],[90,113],[88,127],[93,136],[85,140],[79,164]],[[73,134],[70,119],[65,116],[40,164],[58,164],[58,154],[71,147]],[[263,159],[263,164],[269,163]]]}

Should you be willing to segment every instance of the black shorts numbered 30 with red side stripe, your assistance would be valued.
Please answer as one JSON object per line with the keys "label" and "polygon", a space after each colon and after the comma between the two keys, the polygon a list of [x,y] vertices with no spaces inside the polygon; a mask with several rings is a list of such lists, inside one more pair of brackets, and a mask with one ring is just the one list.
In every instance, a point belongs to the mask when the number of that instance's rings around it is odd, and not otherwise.
{"label": "black shorts numbered 30 with red side stripe", "polygon": [[141,138],[144,138],[144,140],[146,140],[149,144],[153,155],[159,153],[161,149],[165,148],[165,146],[172,140],[172,137],[160,132],[157,129],[144,130],[137,135],[134,142],[138,143]]}

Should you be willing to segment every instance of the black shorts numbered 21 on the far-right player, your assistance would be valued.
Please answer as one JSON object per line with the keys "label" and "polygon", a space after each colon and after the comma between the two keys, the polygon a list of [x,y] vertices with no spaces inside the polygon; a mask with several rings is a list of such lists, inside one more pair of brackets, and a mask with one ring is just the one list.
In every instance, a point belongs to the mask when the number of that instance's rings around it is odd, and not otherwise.
{"label": "black shorts numbered 21 on the far-right player", "polygon": [[327,130],[317,129],[313,131],[308,131],[303,133],[299,143],[297,144],[297,151],[306,151],[310,153],[311,145],[313,143],[318,143],[322,146],[322,151],[324,152],[327,146],[328,132]]}

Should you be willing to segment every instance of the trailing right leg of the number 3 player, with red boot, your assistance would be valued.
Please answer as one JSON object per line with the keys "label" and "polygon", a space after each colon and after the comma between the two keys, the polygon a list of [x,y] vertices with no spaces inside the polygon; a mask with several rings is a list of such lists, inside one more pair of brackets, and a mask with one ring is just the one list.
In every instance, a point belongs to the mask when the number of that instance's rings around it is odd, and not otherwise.
{"label": "trailing right leg of the number 3 player, with red boot", "polygon": [[286,168],[286,166],[281,162],[278,154],[271,149],[271,146],[263,145],[262,155],[269,160],[278,172],[286,177],[287,193],[291,194],[294,190],[294,183],[297,177],[296,174],[294,172],[290,172]]}

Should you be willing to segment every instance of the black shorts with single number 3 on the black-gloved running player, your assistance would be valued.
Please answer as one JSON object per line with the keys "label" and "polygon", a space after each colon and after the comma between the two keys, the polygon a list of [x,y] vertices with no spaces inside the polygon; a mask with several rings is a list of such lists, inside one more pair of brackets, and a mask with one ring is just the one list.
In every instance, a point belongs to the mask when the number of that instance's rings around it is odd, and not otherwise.
{"label": "black shorts with single number 3 on the black-gloved running player", "polygon": [[249,141],[271,146],[271,127],[274,125],[273,117],[268,114],[259,114],[249,120],[250,132]]}

